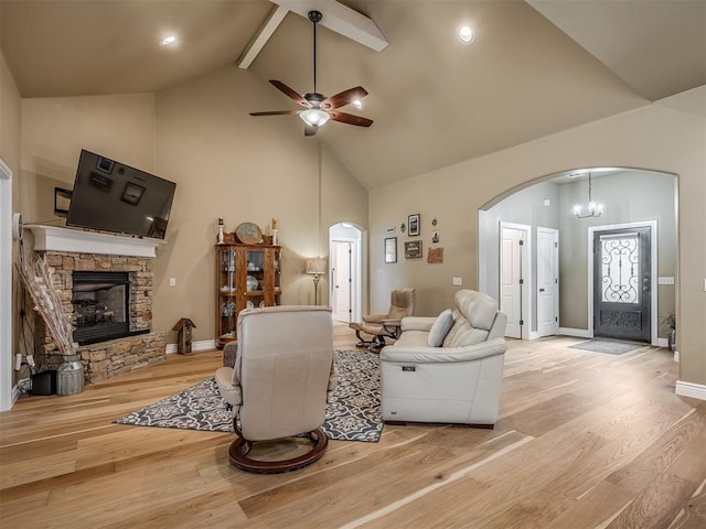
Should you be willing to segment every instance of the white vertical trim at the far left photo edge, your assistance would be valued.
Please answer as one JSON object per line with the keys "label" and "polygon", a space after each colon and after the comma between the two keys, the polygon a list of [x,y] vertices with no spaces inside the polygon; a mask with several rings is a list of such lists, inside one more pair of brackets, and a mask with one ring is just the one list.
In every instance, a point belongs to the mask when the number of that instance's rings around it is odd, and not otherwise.
{"label": "white vertical trim at the far left photo edge", "polygon": [[17,400],[12,389],[12,171],[0,160],[0,411]]}

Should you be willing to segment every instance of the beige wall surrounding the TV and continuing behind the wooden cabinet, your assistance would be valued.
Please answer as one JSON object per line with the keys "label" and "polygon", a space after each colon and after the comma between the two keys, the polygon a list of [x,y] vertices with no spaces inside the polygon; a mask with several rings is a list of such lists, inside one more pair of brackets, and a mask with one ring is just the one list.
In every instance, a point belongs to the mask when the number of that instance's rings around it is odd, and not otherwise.
{"label": "beige wall surrounding the TV and continuing behind the wooden cabinet", "polygon": [[[312,302],[303,259],[328,252],[329,224],[366,229],[367,192],[317,139],[303,137],[298,120],[282,130],[249,117],[260,91],[259,80],[229,67],[158,95],[23,100],[25,218],[63,224],[53,215],[53,188],[72,186],[85,148],[176,182],[167,240],[154,261],[156,331],[191,317],[195,341],[214,337],[218,217],[227,230],[248,220],[266,233],[277,218],[282,303]],[[330,206],[338,201],[342,207]]]}

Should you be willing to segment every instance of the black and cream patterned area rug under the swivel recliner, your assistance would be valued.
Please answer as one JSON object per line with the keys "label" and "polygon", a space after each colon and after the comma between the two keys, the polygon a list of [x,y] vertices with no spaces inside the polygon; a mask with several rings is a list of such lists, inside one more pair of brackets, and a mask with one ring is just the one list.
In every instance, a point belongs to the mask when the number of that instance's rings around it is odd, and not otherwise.
{"label": "black and cream patterned area rug under the swivel recliner", "polygon": [[[336,350],[339,386],[329,397],[323,430],[336,441],[376,443],[379,411],[379,356],[368,350]],[[231,412],[210,378],[116,421],[138,427],[181,428],[233,433]]]}

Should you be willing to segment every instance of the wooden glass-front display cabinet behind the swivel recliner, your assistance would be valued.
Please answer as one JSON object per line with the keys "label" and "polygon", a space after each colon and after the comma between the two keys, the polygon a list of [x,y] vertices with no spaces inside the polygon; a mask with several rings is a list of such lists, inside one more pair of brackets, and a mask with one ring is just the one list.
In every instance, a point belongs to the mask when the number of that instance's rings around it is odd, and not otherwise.
{"label": "wooden glass-front display cabinet behind the swivel recliner", "polygon": [[236,336],[243,309],[278,305],[281,247],[216,245],[216,346]]}

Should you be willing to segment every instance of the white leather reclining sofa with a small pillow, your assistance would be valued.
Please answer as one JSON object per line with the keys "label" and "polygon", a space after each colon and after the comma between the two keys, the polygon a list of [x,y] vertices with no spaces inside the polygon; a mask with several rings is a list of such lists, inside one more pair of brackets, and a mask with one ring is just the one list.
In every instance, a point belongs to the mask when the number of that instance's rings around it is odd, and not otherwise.
{"label": "white leather reclining sofa with a small pillow", "polygon": [[397,342],[382,349],[384,421],[495,424],[507,316],[472,290],[457,292],[454,304],[446,317],[403,319]]}

